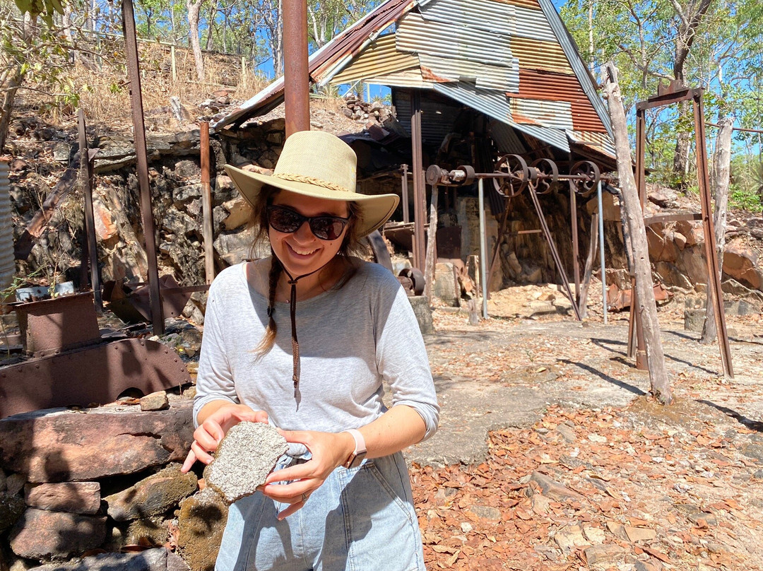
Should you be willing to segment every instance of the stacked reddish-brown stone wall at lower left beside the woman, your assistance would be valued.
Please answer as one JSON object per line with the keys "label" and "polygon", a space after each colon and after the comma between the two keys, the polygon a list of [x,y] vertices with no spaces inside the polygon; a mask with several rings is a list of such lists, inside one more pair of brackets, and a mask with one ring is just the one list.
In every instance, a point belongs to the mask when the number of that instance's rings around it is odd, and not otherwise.
{"label": "stacked reddish-brown stone wall at lower left beside the woman", "polygon": [[227,507],[196,473],[180,473],[192,442],[191,396],[153,399],[166,403],[153,407],[160,410],[127,399],[0,421],[0,569],[140,547],[166,547],[194,571],[212,569]]}

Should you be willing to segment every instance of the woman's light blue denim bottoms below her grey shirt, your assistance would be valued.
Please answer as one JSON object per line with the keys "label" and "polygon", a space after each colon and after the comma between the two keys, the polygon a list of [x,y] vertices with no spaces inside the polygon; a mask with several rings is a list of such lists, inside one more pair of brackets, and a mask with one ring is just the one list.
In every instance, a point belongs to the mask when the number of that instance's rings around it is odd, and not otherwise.
{"label": "woman's light blue denim bottoms below her grey shirt", "polygon": [[[285,456],[276,469],[295,461]],[[259,492],[231,505],[216,571],[425,569],[401,453],[337,468],[303,508],[278,521],[287,507]]]}

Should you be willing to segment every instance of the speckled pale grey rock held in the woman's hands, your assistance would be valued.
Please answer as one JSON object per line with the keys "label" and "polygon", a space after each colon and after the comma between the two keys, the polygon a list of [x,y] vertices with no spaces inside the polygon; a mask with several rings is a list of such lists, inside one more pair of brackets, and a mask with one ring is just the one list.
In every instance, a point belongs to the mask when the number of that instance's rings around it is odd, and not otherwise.
{"label": "speckled pale grey rock held in the woman's hands", "polygon": [[286,439],[275,427],[264,422],[240,422],[221,440],[214,460],[204,469],[204,479],[232,504],[256,492],[286,450]]}

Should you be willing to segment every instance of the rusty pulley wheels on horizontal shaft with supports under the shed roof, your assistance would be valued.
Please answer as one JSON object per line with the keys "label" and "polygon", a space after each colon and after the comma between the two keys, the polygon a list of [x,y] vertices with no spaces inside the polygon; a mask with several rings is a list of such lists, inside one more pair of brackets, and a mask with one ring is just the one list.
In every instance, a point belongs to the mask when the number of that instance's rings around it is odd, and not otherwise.
{"label": "rusty pulley wheels on horizontal shaft with supports under the shed roof", "polygon": [[[604,178],[605,177],[601,176],[598,166],[588,160],[573,164],[571,169],[569,169],[568,174],[560,174],[559,166],[550,159],[538,159],[528,165],[522,156],[516,154],[506,154],[501,156],[495,163],[493,173],[475,173],[472,166],[459,166],[456,169],[448,171],[437,165],[431,165],[427,169],[427,184],[430,185],[468,185],[474,182],[475,179],[479,179],[481,184],[483,179],[492,179],[495,191],[499,195],[504,196],[504,198],[507,198],[507,200],[520,195],[526,190],[530,195],[531,202],[533,202],[533,207],[538,215],[541,228],[539,231],[530,230],[522,231],[522,233],[542,233],[546,238],[556,269],[559,271],[559,275],[562,278],[562,286],[565,289],[578,320],[581,319],[581,314],[576,296],[571,292],[567,273],[562,264],[562,260],[559,257],[559,250],[554,243],[549,226],[546,224],[546,216],[543,214],[538,195],[552,192],[552,190],[559,185],[559,182],[568,182],[571,194],[571,218],[573,219],[572,240],[573,253],[575,255],[575,289],[578,290],[580,273],[577,260],[578,237],[577,216],[575,214],[575,195],[581,195],[583,198],[588,198],[588,196],[596,192],[599,182]],[[498,253],[500,251],[499,248],[501,246],[501,237],[504,236],[504,231],[506,230],[508,212],[509,210],[507,208],[501,218],[501,227],[498,230],[499,238],[495,244],[495,249],[491,257],[490,273],[488,276],[483,277],[483,289],[485,289],[486,283],[490,281],[496,266]]]}

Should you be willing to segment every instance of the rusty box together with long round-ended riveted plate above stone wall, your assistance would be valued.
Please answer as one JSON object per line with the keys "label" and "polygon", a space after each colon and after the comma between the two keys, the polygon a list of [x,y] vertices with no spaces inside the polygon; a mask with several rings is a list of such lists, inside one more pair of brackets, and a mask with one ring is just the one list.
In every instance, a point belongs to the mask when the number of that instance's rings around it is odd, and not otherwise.
{"label": "rusty box together with long round-ended riveted plate above stone wall", "polygon": [[191,382],[172,348],[125,334],[101,337],[92,292],[11,305],[28,358],[0,368],[0,418]]}

